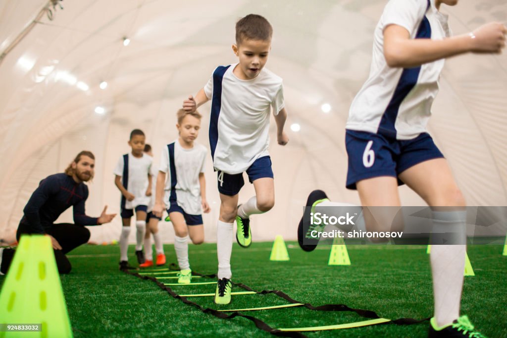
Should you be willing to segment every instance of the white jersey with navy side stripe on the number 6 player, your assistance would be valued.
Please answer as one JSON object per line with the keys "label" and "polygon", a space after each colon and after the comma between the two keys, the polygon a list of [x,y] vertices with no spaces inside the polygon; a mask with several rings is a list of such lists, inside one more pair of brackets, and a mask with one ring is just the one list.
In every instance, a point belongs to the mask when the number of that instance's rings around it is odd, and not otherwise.
{"label": "white jersey with navy side stripe on the number 6 player", "polygon": [[402,69],[387,65],[383,31],[400,25],[412,39],[442,40],[451,35],[448,17],[434,0],[390,0],[375,28],[370,76],[355,96],[346,128],[410,140],[426,131],[431,104],[439,90],[444,59]]}

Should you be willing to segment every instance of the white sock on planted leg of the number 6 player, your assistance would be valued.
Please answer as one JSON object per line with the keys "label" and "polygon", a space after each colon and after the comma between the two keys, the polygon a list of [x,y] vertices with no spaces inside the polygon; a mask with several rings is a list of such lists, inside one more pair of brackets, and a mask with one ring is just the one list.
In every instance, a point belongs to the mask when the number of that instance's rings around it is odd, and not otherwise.
{"label": "white sock on planted leg of the number 6 player", "polygon": [[459,317],[463,272],[466,255],[466,212],[433,211],[431,243],[462,243],[432,245],[430,260],[433,277],[434,318],[440,327]]}

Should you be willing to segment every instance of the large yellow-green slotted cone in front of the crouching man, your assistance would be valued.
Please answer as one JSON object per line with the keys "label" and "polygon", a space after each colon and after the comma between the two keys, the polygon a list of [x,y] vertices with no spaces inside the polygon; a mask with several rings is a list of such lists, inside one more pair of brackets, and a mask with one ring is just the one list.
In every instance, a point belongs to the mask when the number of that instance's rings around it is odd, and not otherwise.
{"label": "large yellow-green slotted cone in front of the crouching man", "polygon": [[0,337],[73,336],[48,236],[21,236],[0,292],[0,314],[2,323],[42,328],[42,332],[0,332]]}

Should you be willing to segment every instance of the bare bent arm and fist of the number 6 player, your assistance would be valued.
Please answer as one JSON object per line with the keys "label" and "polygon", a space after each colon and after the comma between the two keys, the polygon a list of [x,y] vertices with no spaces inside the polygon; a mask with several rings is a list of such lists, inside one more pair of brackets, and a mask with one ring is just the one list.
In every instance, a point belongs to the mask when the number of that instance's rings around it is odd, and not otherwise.
{"label": "bare bent arm and fist of the number 6 player", "polygon": [[467,52],[499,53],[505,31],[504,25],[492,22],[444,40],[410,39],[406,28],[391,24],[384,29],[384,57],[390,67],[410,68]]}

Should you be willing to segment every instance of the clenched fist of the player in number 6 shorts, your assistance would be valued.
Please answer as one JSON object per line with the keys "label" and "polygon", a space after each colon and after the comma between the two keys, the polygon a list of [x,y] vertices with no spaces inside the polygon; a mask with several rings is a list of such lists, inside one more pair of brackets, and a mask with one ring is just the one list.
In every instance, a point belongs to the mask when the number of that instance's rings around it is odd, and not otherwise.
{"label": "clenched fist of the player in number 6 shorts", "polygon": [[505,47],[507,27],[498,22],[480,26],[470,34],[472,51],[476,53],[500,53]]}

